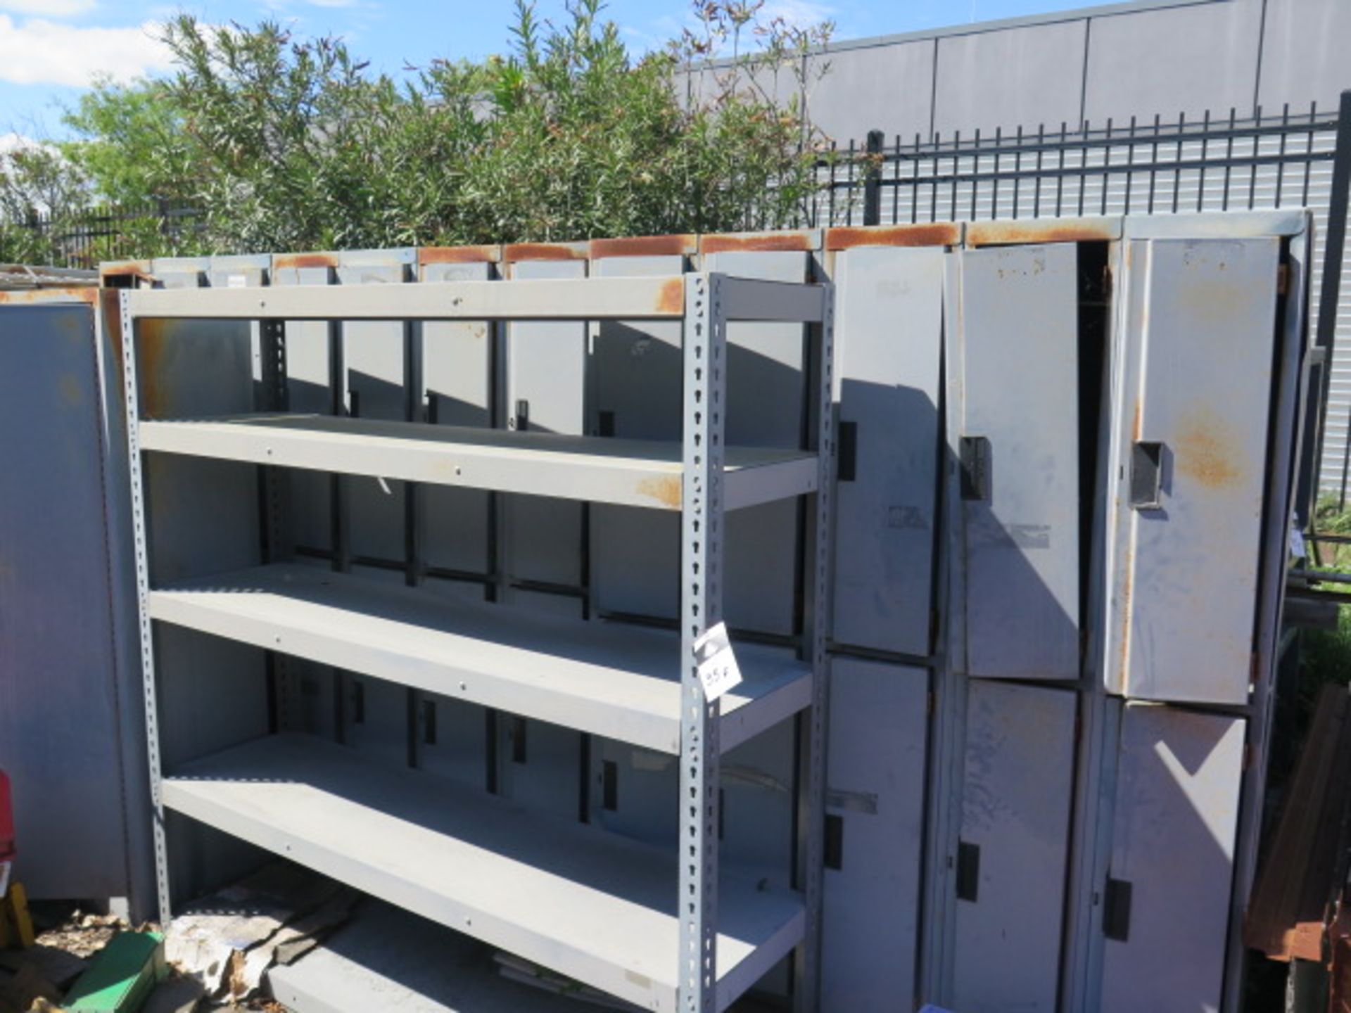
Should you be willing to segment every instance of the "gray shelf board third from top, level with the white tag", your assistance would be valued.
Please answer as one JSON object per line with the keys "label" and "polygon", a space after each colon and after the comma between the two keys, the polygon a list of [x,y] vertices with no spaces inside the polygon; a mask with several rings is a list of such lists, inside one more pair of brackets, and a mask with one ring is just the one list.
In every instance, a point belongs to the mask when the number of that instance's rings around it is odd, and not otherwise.
{"label": "gray shelf board third from top, level with the white tag", "polygon": [[[155,589],[151,619],[499,708],[666,754],[680,752],[680,639],[449,600],[315,566],[274,563]],[[720,701],[731,750],[811,705],[811,667],[738,644],[744,681]]]}

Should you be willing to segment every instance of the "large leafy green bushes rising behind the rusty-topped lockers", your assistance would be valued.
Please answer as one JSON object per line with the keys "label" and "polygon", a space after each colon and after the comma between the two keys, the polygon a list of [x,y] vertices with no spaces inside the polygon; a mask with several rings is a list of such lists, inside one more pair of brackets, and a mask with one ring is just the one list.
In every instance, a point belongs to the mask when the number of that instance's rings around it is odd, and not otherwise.
{"label": "large leafy green bushes rising behind the rusty-topped lockers", "polygon": [[[85,200],[197,209],[143,253],[231,253],[774,228],[816,189],[794,30],[763,0],[696,0],[697,31],[634,57],[603,0],[561,24],[517,0],[508,51],[397,82],[274,22],[165,30],[162,81],[99,82],[66,118]],[[753,45],[747,47],[747,41]],[[711,62],[715,61],[716,62]],[[786,80],[786,84],[785,84]]]}

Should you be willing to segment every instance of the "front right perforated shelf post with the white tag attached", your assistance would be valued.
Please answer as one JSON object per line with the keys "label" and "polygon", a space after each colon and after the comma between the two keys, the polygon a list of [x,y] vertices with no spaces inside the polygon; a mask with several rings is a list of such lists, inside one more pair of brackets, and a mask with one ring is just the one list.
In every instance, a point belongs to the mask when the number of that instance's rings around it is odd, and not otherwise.
{"label": "front right perforated shelf post with the white tag attached", "polygon": [[719,702],[694,642],[723,615],[723,430],[727,321],[720,274],[685,276],[681,511],[680,1013],[717,1010]]}

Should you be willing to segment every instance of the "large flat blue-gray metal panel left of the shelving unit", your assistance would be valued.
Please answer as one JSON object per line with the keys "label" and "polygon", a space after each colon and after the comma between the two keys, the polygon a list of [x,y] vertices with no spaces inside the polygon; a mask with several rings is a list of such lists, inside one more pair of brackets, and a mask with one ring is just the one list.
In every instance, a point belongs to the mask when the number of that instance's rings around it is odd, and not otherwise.
{"label": "large flat blue-gray metal panel left of the shelving unit", "polygon": [[145,732],[119,706],[139,670],[118,670],[96,357],[84,303],[0,309],[0,769],[32,898],[128,894],[126,821],[149,827],[122,754]]}

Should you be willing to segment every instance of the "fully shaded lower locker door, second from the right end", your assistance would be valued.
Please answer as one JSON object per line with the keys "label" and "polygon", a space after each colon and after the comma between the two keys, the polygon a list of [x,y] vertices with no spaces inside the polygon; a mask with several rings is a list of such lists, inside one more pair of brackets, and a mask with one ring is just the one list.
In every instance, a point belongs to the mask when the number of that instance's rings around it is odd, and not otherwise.
{"label": "fully shaded lower locker door, second from the right end", "polygon": [[1054,1013],[1075,694],[971,681],[952,1009]]}

